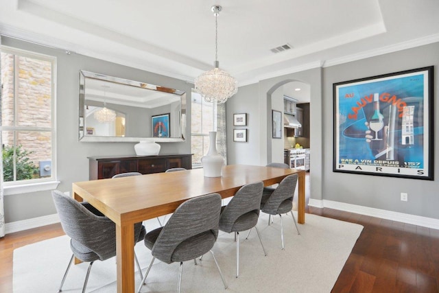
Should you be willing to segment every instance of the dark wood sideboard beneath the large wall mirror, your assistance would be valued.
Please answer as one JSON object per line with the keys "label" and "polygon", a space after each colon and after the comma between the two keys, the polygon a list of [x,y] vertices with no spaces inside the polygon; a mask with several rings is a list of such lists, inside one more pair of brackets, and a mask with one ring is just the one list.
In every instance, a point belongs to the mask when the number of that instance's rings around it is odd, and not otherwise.
{"label": "dark wood sideboard beneath the large wall mirror", "polygon": [[158,156],[88,156],[90,180],[111,178],[119,173],[161,173],[170,168],[192,169],[192,154]]}

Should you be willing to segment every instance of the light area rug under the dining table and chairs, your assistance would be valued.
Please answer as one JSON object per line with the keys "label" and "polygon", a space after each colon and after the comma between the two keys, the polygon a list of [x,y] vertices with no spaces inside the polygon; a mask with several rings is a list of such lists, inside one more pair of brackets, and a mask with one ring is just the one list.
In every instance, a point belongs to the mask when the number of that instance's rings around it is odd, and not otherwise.
{"label": "light area rug under the dining table and chairs", "polygon": [[[295,216],[297,213],[294,211]],[[261,213],[257,227],[267,256],[263,255],[256,231],[240,233],[240,273],[236,274],[236,243],[233,233],[219,232],[213,252],[228,283],[224,290],[211,254],[195,266],[183,264],[182,292],[331,292],[363,226],[305,215],[300,235],[291,215],[283,216],[285,250],[281,250],[279,217],[268,226],[268,215]],[[144,222],[147,231],[158,226],[156,219]],[[14,250],[14,292],[57,292],[71,257],[69,237],[61,236]],[[143,273],[152,259],[150,250],[139,242],[135,251]],[[63,292],[81,292],[88,263],[72,266]],[[179,263],[156,260],[141,292],[176,292]],[[135,272],[136,288],[141,281]],[[87,292],[116,292],[116,261],[95,261]]]}

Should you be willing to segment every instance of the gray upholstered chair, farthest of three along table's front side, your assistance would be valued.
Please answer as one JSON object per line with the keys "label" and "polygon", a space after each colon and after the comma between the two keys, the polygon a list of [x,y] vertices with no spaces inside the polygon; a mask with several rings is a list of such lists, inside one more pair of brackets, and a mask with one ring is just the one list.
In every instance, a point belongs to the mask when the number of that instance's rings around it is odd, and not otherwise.
{"label": "gray upholstered chair, farthest of three along table's front side", "polygon": [[[262,200],[261,200],[261,211],[263,213],[268,213],[271,215],[279,215],[281,218],[281,239],[282,239],[282,249],[285,249],[285,245],[283,242],[283,224],[282,224],[282,214],[283,213],[291,213],[294,221],[294,225],[296,225],[296,230],[298,235],[300,235],[299,228],[297,226],[296,218],[294,218],[293,214],[293,199],[294,199],[294,191],[296,190],[297,185],[297,174],[289,175],[279,183],[278,187],[271,191],[263,191]],[[270,225],[270,218],[268,220],[268,224]]]}

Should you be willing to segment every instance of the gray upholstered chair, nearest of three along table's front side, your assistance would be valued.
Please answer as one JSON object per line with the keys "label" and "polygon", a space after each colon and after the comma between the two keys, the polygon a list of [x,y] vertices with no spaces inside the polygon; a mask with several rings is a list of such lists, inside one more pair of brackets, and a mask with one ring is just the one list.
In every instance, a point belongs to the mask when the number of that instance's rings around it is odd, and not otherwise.
{"label": "gray upholstered chair, nearest of three along table's front side", "polygon": [[183,261],[189,261],[211,252],[227,289],[221,269],[211,248],[218,237],[221,196],[208,194],[191,198],[180,204],[168,222],[145,235],[145,246],[151,250],[152,261],[139,286],[140,292],[155,259],[164,263],[180,262],[178,274],[178,292],[181,288]]}

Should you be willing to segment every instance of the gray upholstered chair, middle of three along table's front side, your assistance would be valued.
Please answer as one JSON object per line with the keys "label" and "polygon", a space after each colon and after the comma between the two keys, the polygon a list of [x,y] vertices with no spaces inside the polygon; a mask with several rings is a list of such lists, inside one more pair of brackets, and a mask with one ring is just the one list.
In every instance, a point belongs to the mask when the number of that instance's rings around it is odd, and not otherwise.
{"label": "gray upholstered chair, middle of three along table's front side", "polygon": [[256,224],[261,207],[263,182],[259,181],[241,187],[232,200],[224,207],[219,218],[219,230],[235,233],[236,239],[236,277],[239,277],[239,232],[255,228],[265,256],[261,235]]}

